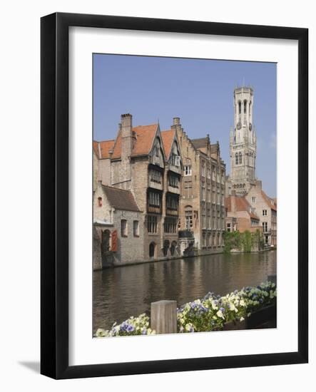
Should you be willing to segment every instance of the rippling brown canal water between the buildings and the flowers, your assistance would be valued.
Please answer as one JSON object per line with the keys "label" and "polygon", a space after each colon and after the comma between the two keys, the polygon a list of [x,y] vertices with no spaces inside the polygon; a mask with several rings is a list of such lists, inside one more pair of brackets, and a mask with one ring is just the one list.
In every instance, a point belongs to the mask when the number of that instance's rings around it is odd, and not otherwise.
{"label": "rippling brown canal water between the buildings and the flowers", "polygon": [[93,331],[109,329],[148,312],[151,302],[175,299],[178,305],[208,292],[228,294],[257,286],[276,274],[276,251],[212,254],[93,272]]}

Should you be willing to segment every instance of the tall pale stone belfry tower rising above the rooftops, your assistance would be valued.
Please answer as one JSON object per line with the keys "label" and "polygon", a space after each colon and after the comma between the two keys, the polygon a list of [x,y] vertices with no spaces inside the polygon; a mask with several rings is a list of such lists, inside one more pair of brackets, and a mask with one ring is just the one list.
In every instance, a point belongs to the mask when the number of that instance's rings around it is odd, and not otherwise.
{"label": "tall pale stone belfry tower rising above the rooftops", "polygon": [[245,195],[255,185],[257,139],[253,126],[253,89],[234,90],[234,128],[230,130],[230,187]]}

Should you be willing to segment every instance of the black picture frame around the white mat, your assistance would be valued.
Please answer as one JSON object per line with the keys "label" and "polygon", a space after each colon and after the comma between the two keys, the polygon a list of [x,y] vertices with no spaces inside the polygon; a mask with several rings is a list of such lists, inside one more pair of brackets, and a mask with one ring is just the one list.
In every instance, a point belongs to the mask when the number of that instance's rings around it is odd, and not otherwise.
{"label": "black picture frame around the white mat", "polygon": [[[68,365],[68,28],[130,29],[298,41],[297,352]],[[308,361],[308,30],[125,16],[41,18],[41,373],[52,378],[267,366]]]}

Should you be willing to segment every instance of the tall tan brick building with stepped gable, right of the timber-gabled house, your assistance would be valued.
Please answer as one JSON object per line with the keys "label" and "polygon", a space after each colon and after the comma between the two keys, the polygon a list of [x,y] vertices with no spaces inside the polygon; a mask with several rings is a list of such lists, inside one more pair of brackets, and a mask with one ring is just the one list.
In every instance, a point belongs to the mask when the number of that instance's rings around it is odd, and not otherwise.
{"label": "tall tan brick building with stepped gable, right of the timber-gabled house", "polygon": [[194,247],[199,253],[223,247],[225,230],[225,163],[218,143],[209,136],[190,139],[174,118],[172,129],[178,134],[183,159],[180,192],[181,231],[193,232]]}

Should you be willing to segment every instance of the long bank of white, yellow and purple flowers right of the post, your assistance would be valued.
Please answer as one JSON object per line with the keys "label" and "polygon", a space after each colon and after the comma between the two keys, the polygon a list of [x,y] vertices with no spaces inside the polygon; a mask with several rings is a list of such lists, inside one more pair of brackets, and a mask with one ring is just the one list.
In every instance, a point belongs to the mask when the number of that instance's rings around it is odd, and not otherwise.
{"label": "long bank of white, yellow and purple flowers right of the post", "polygon": [[246,316],[267,306],[276,297],[275,284],[244,287],[226,296],[208,293],[178,309],[178,332],[203,332],[223,329],[228,321],[243,321]]}

